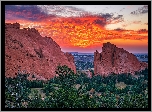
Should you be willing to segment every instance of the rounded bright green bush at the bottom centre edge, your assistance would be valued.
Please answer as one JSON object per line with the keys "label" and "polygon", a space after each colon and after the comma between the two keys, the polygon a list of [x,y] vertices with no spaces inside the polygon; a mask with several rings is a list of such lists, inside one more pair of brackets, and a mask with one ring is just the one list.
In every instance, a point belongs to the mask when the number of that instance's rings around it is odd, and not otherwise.
{"label": "rounded bright green bush at the bottom centre edge", "polygon": [[47,99],[48,108],[95,108],[95,99],[89,95],[78,94],[75,88],[60,88],[54,91]]}

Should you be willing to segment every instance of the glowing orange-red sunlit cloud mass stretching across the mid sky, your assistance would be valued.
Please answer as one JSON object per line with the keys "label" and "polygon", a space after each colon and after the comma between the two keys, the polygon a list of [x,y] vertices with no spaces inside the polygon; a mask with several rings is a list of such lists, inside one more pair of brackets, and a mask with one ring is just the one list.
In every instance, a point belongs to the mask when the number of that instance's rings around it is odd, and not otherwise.
{"label": "glowing orange-red sunlit cloud mass stretching across the mid sky", "polygon": [[104,40],[113,39],[148,40],[148,31],[145,30],[107,30],[104,27],[105,18],[98,16],[46,18],[45,21],[43,19],[35,22],[6,20],[6,22],[19,22],[22,28],[35,27],[42,36],[53,38],[61,47],[92,48],[101,46]]}

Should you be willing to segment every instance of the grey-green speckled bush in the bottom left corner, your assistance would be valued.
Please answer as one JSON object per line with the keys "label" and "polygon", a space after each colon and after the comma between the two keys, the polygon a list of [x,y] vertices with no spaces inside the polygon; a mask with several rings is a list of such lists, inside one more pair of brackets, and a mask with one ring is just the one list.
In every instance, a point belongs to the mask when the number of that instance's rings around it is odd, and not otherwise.
{"label": "grey-green speckled bush in the bottom left corner", "polygon": [[5,108],[23,108],[28,102],[30,88],[26,87],[27,75],[18,74],[16,78],[5,77]]}

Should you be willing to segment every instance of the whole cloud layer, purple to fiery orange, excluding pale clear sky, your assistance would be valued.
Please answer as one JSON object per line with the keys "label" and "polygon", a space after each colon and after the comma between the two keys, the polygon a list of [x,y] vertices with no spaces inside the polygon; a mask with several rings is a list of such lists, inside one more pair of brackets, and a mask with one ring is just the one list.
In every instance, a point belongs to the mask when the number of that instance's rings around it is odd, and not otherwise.
{"label": "whole cloud layer, purple to fiery orange, excluding pale clear sky", "polygon": [[[147,13],[146,9],[147,6],[144,6],[135,12]],[[63,48],[93,49],[101,47],[103,41],[113,39],[148,40],[146,29],[106,29],[109,24],[124,23],[124,15],[93,13],[73,6],[6,5],[5,21],[19,22],[22,28],[36,28],[42,36],[53,38]],[[130,24],[141,23],[132,21]]]}

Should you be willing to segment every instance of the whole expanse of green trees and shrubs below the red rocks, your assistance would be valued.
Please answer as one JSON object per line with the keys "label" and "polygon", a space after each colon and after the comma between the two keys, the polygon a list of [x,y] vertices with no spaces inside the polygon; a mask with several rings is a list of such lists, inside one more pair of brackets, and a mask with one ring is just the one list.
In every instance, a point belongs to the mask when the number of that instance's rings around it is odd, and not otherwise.
{"label": "whole expanse of green trees and shrubs below the red rocks", "polygon": [[[89,78],[83,73],[74,74],[65,65],[58,66],[56,73],[59,76],[45,84],[43,81],[28,81],[26,74],[5,78],[5,107],[148,108],[148,69],[136,73],[138,78],[130,74]],[[42,90],[45,97],[42,98],[42,93],[33,87]]]}

